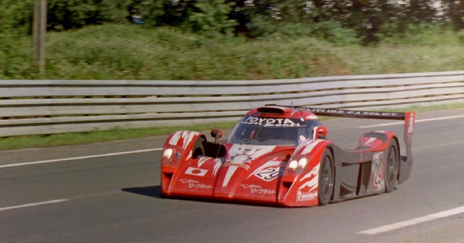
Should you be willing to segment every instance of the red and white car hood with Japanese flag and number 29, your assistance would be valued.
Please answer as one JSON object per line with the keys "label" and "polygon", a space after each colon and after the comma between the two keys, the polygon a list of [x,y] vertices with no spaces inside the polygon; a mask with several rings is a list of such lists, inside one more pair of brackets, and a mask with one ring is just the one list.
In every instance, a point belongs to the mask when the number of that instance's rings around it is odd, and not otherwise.
{"label": "red and white car hood with Japanese flag and number 29", "polygon": [[225,158],[189,158],[174,174],[175,196],[276,203],[280,177],[295,146],[226,144]]}

